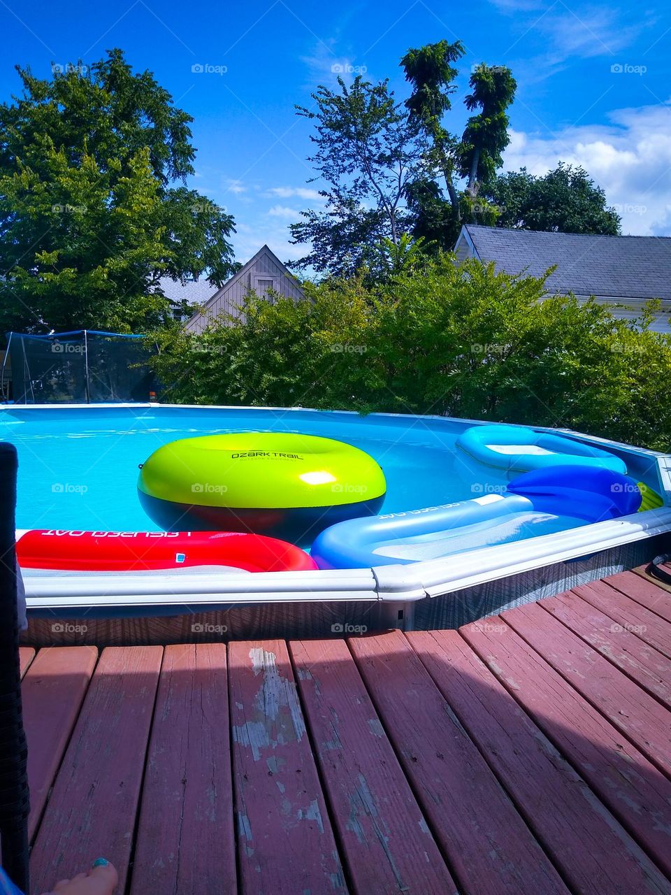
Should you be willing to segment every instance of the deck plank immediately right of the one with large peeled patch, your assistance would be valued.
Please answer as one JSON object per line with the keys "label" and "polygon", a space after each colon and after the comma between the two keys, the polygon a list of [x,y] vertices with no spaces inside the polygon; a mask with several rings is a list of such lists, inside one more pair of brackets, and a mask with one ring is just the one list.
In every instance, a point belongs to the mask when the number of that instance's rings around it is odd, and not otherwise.
{"label": "deck plank immediately right of the one with large peeled patch", "polygon": [[456,892],[347,644],[289,647],[352,891]]}

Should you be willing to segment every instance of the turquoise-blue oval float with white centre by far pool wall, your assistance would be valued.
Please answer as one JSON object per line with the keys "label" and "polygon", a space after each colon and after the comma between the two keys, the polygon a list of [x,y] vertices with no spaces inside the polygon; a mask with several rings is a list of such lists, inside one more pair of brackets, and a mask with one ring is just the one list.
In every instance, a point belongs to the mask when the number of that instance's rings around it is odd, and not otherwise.
{"label": "turquoise-blue oval float with white centre by far pool wall", "polygon": [[456,446],[480,463],[511,472],[526,473],[557,464],[627,471],[623,460],[599,447],[524,426],[471,426],[456,439]]}

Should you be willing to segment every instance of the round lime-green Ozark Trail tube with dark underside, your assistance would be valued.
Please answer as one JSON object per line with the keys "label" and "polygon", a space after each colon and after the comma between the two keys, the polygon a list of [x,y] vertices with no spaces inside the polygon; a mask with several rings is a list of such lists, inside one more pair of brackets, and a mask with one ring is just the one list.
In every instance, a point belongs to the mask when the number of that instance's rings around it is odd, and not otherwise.
{"label": "round lime-green Ozark Trail tube with dark underside", "polygon": [[386,482],[342,441],[291,432],[180,439],[141,466],[140,502],[162,528],[256,532],[309,543],[328,525],[374,516]]}

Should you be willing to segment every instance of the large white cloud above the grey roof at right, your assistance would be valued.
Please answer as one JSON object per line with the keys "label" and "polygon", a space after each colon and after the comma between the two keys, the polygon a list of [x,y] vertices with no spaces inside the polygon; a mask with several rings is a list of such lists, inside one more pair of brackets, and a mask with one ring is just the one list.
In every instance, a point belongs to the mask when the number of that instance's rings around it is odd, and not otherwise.
{"label": "large white cloud above the grey roof at right", "polygon": [[504,169],[525,166],[542,175],[559,161],[581,165],[616,207],[624,234],[671,234],[671,100],[618,109],[609,118],[549,137],[511,131]]}

